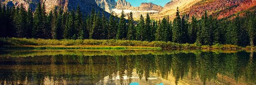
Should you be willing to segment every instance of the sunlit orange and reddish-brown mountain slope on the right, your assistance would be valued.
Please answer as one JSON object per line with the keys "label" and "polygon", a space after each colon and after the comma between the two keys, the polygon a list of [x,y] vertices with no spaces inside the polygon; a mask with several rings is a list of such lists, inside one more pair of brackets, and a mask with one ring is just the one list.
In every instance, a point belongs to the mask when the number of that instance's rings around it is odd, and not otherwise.
{"label": "sunlit orange and reddish-brown mountain slope on the right", "polygon": [[175,17],[177,7],[181,14],[195,15],[198,18],[207,11],[218,19],[233,16],[244,11],[255,10],[256,0],[172,0],[167,3],[158,14],[152,15],[159,19],[169,16]]}

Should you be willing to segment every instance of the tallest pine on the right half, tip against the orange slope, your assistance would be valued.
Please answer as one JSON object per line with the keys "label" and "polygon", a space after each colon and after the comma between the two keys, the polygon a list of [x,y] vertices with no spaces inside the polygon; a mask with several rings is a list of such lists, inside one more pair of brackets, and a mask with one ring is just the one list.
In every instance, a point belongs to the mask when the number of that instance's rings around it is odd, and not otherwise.
{"label": "tallest pine on the right half, tip against the orange slope", "polygon": [[180,12],[178,8],[176,12],[176,17],[173,21],[172,41],[182,43],[181,18],[180,18]]}

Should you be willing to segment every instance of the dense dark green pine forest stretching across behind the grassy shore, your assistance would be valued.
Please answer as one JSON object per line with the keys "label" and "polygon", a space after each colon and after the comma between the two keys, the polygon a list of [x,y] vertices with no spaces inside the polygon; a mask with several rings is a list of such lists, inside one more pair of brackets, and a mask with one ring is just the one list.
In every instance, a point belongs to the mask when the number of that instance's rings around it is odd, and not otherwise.
{"label": "dense dark green pine forest stretching across behind the grassy shore", "polygon": [[200,45],[232,44],[247,46],[256,44],[256,12],[246,12],[243,17],[218,20],[207,11],[200,19],[180,15],[177,8],[173,21],[168,17],[151,20],[141,15],[134,21],[130,13],[128,20],[124,12],[121,17],[105,17],[92,9],[82,14],[78,6],[73,11],[55,7],[46,12],[44,3],[38,4],[35,12],[23,5],[0,6],[0,37],[41,38],[41,39],[95,39],[95,40],[140,40]]}

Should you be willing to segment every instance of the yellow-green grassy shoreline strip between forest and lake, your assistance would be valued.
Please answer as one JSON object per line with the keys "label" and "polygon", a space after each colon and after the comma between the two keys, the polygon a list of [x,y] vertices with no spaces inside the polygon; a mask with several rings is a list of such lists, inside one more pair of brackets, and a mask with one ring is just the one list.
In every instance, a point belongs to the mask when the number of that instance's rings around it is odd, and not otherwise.
{"label": "yellow-green grassy shoreline strip between forest and lake", "polygon": [[256,47],[240,47],[237,45],[200,45],[180,44],[175,42],[162,41],[135,41],[135,40],[44,40],[27,38],[0,38],[0,48],[13,49],[106,49],[106,50],[125,50],[125,49],[256,49]]}

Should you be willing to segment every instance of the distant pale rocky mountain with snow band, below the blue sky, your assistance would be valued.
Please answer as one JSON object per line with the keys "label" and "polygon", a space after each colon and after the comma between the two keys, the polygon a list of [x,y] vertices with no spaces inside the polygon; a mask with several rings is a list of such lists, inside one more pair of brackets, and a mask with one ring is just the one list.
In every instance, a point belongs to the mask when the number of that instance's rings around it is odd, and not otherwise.
{"label": "distant pale rocky mountain with snow band, below the blue sky", "polygon": [[[163,7],[158,6],[154,3],[141,3],[139,7],[131,6],[131,3],[126,0],[95,0],[99,7],[103,8],[108,13],[113,13],[116,15],[120,15],[122,10],[124,10],[126,16],[130,12],[133,12],[134,18],[139,19],[140,15],[146,16],[149,14],[157,14],[157,12],[162,11]],[[127,18],[127,17],[126,17]]]}

